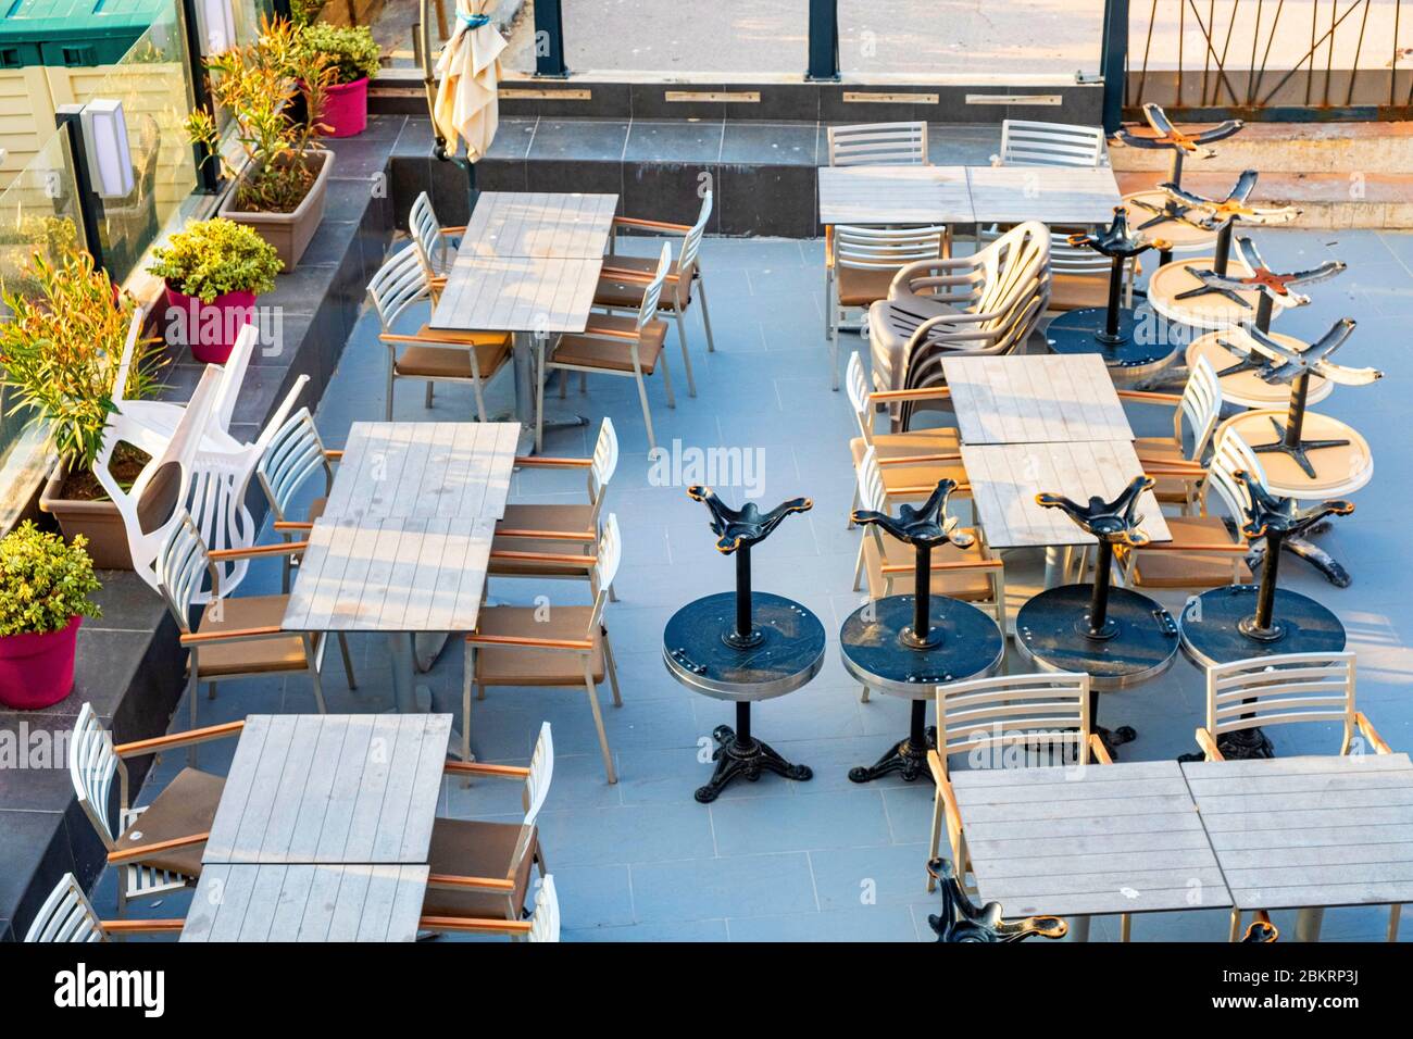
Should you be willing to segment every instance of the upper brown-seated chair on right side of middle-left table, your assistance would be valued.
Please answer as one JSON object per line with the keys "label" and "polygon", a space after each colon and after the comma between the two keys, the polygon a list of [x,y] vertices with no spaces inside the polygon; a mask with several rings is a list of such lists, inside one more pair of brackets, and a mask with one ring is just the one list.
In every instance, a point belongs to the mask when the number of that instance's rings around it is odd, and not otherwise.
{"label": "upper brown-seated chair on right side of middle-left table", "polygon": [[[516,465],[533,469],[581,469],[588,479],[588,502],[582,505],[510,502],[496,524],[486,574],[490,577],[538,577],[586,580],[593,587],[593,544],[599,540],[603,502],[609,481],[617,471],[619,444],[613,420],[605,417],[589,458],[516,458]],[[577,556],[575,563],[558,557]],[[545,558],[551,557],[551,558]],[[612,597],[612,589],[609,591]]]}

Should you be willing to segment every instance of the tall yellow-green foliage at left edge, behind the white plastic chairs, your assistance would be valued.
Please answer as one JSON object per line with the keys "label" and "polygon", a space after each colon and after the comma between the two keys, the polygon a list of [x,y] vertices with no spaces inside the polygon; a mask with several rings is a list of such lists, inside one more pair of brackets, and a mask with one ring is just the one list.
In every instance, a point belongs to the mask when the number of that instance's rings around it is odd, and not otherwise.
{"label": "tall yellow-green foliage at left edge, behind the white plastic chairs", "polygon": [[[35,253],[21,278],[32,291],[0,290],[10,311],[0,322],[0,385],[13,396],[8,414],[45,428],[69,472],[88,472],[113,411],[113,382],[137,304],[79,249],[58,262]],[[129,400],[157,393],[161,360],[154,344],[144,339],[133,349],[123,389]]]}

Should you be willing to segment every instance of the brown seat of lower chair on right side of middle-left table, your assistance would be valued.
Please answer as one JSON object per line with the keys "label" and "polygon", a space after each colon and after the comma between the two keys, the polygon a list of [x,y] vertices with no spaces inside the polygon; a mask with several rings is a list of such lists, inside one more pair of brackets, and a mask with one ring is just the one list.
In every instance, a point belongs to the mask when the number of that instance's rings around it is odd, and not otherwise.
{"label": "brown seat of lower chair on right side of middle-left table", "polygon": [[[552,606],[545,616],[537,606],[490,606],[480,611],[478,635],[520,639],[584,639],[592,606]],[[536,646],[478,646],[476,681],[482,686],[582,686],[584,659],[564,649]],[[593,633],[593,681],[603,681],[603,635]]]}

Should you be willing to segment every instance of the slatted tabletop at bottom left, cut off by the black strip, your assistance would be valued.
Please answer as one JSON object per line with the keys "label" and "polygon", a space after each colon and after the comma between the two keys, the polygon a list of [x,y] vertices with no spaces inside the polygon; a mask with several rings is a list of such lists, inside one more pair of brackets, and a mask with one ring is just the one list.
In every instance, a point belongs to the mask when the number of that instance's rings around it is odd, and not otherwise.
{"label": "slatted tabletop at bottom left, cut off by the black strip", "polygon": [[216,864],[201,872],[182,941],[415,941],[422,865]]}

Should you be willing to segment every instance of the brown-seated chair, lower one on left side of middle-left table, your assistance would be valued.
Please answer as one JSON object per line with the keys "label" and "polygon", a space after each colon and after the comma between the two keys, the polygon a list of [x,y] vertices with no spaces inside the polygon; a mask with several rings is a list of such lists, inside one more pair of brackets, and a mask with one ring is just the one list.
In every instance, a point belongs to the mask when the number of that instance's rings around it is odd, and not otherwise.
{"label": "brown-seated chair, lower one on left side of middle-left table", "polygon": [[[287,632],[281,628],[288,595],[246,595],[225,598],[218,564],[236,558],[278,558],[302,551],[305,541],[261,544],[250,548],[208,550],[201,532],[185,512],[157,560],[158,585],[167,609],[177,622],[179,642],[191,650],[187,662],[187,695],[191,727],[196,728],[196,690],[205,684],[215,697],[216,684],[259,674],[308,671],[314,701],[325,712],[322,669],[328,645],[325,632]],[[192,592],[211,580],[211,601],[194,626],[189,622]],[[343,654],[349,688],[355,688],[353,663]],[[195,756],[191,756],[195,763]]]}

